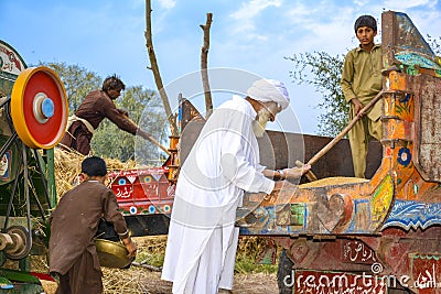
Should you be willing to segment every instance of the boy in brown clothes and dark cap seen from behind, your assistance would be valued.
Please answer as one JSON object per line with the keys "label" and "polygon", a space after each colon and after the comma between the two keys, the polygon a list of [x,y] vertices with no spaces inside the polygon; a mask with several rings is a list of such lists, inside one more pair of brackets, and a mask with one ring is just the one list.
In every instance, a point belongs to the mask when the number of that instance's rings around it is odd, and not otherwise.
{"label": "boy in brown clothes and dark cap seen from behind", "polygon": [[106,187],[106,162],[97,156],[82,163],[83,183],[61,198],[51,216],[50,268],[60,277],[57,294],[103,293],[94,237],[101,217],[112,222],[130,257],[137,253],[117,198]]}

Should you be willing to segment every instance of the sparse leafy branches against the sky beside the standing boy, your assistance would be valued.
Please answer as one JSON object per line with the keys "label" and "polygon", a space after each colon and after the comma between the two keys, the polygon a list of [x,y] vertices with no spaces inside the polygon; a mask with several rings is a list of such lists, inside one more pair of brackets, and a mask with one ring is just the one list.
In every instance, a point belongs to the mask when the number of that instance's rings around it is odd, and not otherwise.
{"label": "sparse leafy branches against the sky beside the standing boy", "polygon": [[293,63],[294,69],[290,72],[293,81],[311,85],[323,96],[323,101],[318,105],[325,111],[319,117],[319,134],[338,134],[347,126],[349,111],[340,84],[344,55],[313,52],[294,54],[286,59]]}

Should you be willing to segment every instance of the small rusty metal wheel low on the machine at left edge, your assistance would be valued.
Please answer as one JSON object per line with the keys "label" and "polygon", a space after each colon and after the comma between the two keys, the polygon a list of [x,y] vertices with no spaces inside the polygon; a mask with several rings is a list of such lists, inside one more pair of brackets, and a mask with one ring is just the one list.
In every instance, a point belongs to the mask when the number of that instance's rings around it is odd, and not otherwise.
{"label": "small rusty metal wheel low on the machine at left edge", "polygon": [[21,260],[28,257],[32,248],[32,239],[26,228],[22,226],[9,227],[7,233],[13,243],[4,249],[4,255],[11,260]]}

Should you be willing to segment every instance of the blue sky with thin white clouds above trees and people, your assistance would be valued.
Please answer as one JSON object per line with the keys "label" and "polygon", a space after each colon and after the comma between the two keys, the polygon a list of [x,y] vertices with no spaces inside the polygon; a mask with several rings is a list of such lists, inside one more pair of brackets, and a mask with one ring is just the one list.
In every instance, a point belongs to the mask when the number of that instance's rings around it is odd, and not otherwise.
{"label": "blue sky with thin white clouds above trees and people", "polygon": [[[152,2],[153,45],[165,85],[200,69],[200,24],[212,12],[208,67],[238,68],[282,80],[304,133],[316,132],[321,98],[312,87],[292,83],[291,63],[284,56],[314,51],[345,54],[357,45],[355,19],[372,14],[380,20],[385,10],[406,12],[423,36],[441,35],[437,0]],[[0,0],[0,40],[28,65],[65,62],[101,77],[116,73],[128,86],[157,89],[147,69],[144,0]],[[225,99],[216,97],[215,107]],[[170,100],[174,107],[176,98]]]}

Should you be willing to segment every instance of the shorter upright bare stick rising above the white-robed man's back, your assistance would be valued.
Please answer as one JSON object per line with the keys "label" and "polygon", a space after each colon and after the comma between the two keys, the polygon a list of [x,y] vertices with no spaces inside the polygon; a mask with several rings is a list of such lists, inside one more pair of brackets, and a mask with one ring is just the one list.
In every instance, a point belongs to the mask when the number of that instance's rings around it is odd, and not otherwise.
{"label": "shorter upright bare stick rising above the white-robed man's back", "polygon": [[207,13],[207,19],[205,24],[201,24],[201,29],[204,32],[204,43],[201,47],[201,75],[202,75],[202,85],[204,87],[205,94],[205,118],[209,118],[213,112],[213,100],[212,92],[209,90],[209,81],[208,81],[208,72],[207,72],[207,59],[208,59],[208,50],[209,50],[209,28],[212,26],[212,18],[213,13]]}

